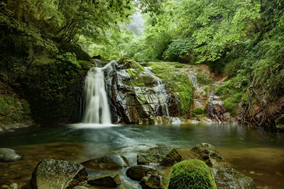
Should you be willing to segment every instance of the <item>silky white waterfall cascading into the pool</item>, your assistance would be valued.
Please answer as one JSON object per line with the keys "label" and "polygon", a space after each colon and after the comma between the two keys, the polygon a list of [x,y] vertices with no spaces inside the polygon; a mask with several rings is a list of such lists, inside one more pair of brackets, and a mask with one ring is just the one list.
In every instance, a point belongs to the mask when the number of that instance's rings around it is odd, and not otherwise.
{"label": "silky white waterfall cascading into the pool", "polygon": [[84,81],[85,110],[82,122],[94,124],[111,124],[107,91],[104,87],[104,68],[89,69]]}

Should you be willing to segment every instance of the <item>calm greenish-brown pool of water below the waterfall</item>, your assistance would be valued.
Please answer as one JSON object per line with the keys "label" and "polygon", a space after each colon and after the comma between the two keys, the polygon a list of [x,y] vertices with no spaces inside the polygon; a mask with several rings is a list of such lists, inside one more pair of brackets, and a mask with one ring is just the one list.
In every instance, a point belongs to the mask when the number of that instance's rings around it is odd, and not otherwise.
{"label": "calm greenish-brown pool of water below the waterfall", "polygon": [[[168,145],[178,149],[183,159],[191,147],[201,142],[213,144],[237,171],[251,176],[257,188],[284,185],[284,134],[239,125],[62,125],[28,127],[0,132],[0,147],[16,149],[23,159],[0,162],[0,188],[16,182],[28,188],[31,173],[42,159],[82,162],[104,154],[121,154],[136,164],[136,154],[150,147]],[[158,167],[168,176],[170,167]],[[125,176],[121,188],[139,188]],[[104,172],[88,170],[89,176]]]}

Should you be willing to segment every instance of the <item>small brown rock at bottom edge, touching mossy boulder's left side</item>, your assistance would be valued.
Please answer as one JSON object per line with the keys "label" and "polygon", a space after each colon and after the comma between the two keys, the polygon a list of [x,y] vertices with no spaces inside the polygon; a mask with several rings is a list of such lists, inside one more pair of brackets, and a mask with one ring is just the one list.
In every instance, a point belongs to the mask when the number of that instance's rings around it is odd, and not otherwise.
{"label": "small brown rock at bottom edge, touching mossy boulder's left side", "polygon": [[163,176],[144,176],[139,184],[143,189],[164,189],[166,182]]}

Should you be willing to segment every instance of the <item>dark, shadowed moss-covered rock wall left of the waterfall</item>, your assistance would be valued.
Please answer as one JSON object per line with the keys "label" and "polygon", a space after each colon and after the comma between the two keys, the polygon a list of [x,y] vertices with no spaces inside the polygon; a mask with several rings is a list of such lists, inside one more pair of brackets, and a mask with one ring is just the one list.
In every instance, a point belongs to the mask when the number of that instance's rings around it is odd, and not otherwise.
{"label": "dark, shadowed moss-covered rock wall left of the waterfall", "polygon": [[80,64],[75,55],[65,54],[49,62],[31,64],[21,78],[23,93],[31,104],[33,118],[42,124],[80,121],[84,76],[90,62]]}

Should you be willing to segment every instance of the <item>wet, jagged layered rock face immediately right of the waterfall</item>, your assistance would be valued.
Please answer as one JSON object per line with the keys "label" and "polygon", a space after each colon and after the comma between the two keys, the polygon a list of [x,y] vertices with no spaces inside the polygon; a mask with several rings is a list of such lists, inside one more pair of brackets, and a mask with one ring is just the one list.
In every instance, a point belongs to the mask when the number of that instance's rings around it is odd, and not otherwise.
{"label": "wet, jagged layered rock face immediately right of the waterfall", "polygon": [[176,122],[178,101],[151,68],[134,61],[110,62],[104,70],[113,122],[155,124]]}

